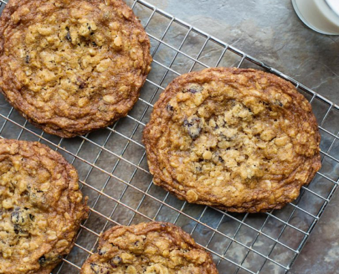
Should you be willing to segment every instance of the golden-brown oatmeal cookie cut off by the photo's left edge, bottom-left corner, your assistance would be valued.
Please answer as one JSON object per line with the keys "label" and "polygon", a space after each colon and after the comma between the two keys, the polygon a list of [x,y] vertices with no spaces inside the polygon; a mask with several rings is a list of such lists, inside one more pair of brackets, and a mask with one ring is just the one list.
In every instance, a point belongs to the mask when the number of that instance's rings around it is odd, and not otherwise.
{"label": "golden-brown oatmeal cookie cut off by the photo's left edge, bottom-left corner", "polygon": [[0,273],[49,274],[88,215],[77,171],[38,142],[0,140]]}

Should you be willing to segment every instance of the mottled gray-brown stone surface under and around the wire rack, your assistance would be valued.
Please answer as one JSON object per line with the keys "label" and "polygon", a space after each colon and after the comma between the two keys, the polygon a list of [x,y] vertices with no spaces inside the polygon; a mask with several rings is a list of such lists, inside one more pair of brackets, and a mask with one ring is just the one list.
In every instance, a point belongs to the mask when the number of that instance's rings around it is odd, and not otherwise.
{"label": "mottled gray-brown stone surface under and around the wire rack", "polygon": [[[133,3],[133,0],[125,1]],[[149,0],[149,2],[242,49],[245,53],[339,103],[339,37],[323,36],[307,29],[294,14],[289,0]],[[136,5],[134,12],[140,16],[144,25],[151,15],[151,11],[141,5]],[[155,14],[147,26],[147,32],[159,38],[168,23],[169,19]],[[177,48],[186,33],[186,28],[173,23],[163,41]],[[190,33],[181,51],[195,56],[203,42],[201,36]],[[181,53],[176,55],[174,50],[164,45],[157,47],[158,43],[153,38],[151,44],[156,62],[171,66],[173,71],[186,73],[194,65],[192,60]],[[209,43],[199,60],[212,66],[221,55],[222,49],[221,46]],[[238,55],[227,51],[221,65],[236,66],[240,59]],[[149,81],[155,84],[147,82],[140,96],[142,100],[150,103],[154,103],[162,91],[158,87],[166,87],[166,84],[176,76],[156,62],[153,62],[153,69],[148,77]],[[255,67],[245,61],[242,67],[246,66]],[[258,69],[258,66],[256,68]],[[202,67],[196,64],[193,69]],[[310,96],[307,98],[310,99]],[[85,182],[82,190],[84,195],[88,195],[88,204],[93,211],[84,224],[86,229],[81,229],[79,233],[78,246],[73,249],[67,260],[81,266],[88,256],[88,251],[96,250],[96,234],[116,223],[128,225],[154,219],[176,223],[191,233],[201,245],[208,245],[208,248],[219,256],[224,256],[224,260],[218,264],[221,274],[249,273],[239,270],[235,264],[227,260],[242,264],[254,273],[257,273],[261,266],[263,268],[260,273],[263,274],[284,273],[283,268],[269,260],[265,261],[262,256],[249,251],[248,247],[252,246],[254,251],[287,266],[294,253],[286,247],[297,249],[314,221],[314,217],[305,214],[303,210],[316,215],[324,201],[312,192],[305,191],[304,195],[293,203],[299,206],[297,210],[295,206],[288,205],[270,215],[233,214],[190,205],[172,195],[167,195],[162,188],[151,184],[151,175],[147,173],[145,149],[142,145],[136,144],[141,142],[142,123],[147,123],[151,112],[145,101],[138,101],[129,112],[129,117],[119,120],[109,129],[93,132],[86,137],[60,140],[58,137],[42,134],[40,129],[26,123],[25,119],[16,111],[12,111],[10,105],[0,96],[0,115],[3,115],[0,116],[0,137],[40,140],[47,143],[53,149],[58,149],[75,165],[79,171],[79,178]],[[321,121],[328,105],[318,99],[314,99],[312,105],[318,121]],[[6,117],[16,124],[8,122]],[[28,130],[22,129],[23,127]],[[339,112],[331,111],[323,127],[331,134],[337,134]],[[322,137],[321,149],[327,151],[333,145],[330,155],[338,158],[339,141],[332,144],[333,136],[324,132]],[[339,163],[326,158],[321,172],[336,181],[339,177]],[[329,179],[316,175],[309,189],[327,197],[334,186]],[[149,196],[145,195],[145,192]],[[337,193],[292,267],[291,274],[338,273],[339,217],[336,213],[338,206]],[[179,214],[177,210],[184,214]],[[198,224],[197,219],[210,227]],[[277,238],[281,244],[275,244]],[[218,256],[214,256],[214,259],[216,262],[219,261]],[[79,271],[75,266],[64,263],[53,273],[77,274]]]}

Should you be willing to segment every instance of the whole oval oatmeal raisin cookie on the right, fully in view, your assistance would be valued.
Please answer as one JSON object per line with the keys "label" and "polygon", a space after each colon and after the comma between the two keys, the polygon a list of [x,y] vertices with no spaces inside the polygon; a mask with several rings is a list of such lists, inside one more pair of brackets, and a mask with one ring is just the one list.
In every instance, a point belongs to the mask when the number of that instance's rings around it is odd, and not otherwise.
{"label": "whole oval oatmeal raisin cookie on the right, fully in view", "polygon": [[310,103],[284,79],[214,68],[177,77],[143,141],[154,183],[234,212],[281,208],[321,168]]}

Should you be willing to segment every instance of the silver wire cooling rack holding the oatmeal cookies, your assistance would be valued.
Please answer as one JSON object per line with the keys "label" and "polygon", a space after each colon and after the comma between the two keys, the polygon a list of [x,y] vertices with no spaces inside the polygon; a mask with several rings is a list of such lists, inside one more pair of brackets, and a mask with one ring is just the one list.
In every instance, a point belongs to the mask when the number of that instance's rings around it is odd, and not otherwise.
{"label": "silver wire cooling rack holding the oatmeal cookies", "polygon": [[[0,11],[5,1],[0,0]],[[336,191],[339,182],[339,107],[291,77],[155,8],[129,0],[151,40],[153,69],[129,115],[112,127],[64,139],[36,129],[0,97],[0,137],[38,140],[59,151],[79,171],[90,216],[73,251],[53,274],[79,273],[96,251],[98,236],[113,225],[168,221],[212,253],[222,274],[286,273]],[[253,67],[292,82],[312,103],[322,135],[323,167],[300,197],[281,210],[236,214],[179,201],[152,184],[142,130],[153,103],[180,75],[208,66]]]}

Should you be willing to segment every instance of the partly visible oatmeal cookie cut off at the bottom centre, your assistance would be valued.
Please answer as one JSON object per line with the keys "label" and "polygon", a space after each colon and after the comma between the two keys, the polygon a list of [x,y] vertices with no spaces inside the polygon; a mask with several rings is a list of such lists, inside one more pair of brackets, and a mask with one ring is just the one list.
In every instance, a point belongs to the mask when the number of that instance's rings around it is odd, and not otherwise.
{"label": "partly visible oatmeal cookie cut off at the bottom centre", "polygon": [[116,226],[99,241],[81,274],[218,274],[212,256],[171,223]]}

